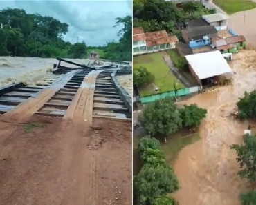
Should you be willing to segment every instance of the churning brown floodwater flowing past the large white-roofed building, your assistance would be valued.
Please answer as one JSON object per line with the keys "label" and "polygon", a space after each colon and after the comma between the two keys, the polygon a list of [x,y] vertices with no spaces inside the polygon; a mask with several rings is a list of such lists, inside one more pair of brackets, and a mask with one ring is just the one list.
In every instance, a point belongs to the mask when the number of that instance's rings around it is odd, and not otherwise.
{"label": "churning brown floodwater flowing past the large white-roofed building", "polygon": [[230,67],[236,73],[232,85],[203,92],[182,102],[208,109],[199,130],[201,140],[183,148],[174,164],[181,184],[174,197],[182,205],[239,205],[239,193],[248,188],[246,180],[237,175],[239,164],[235,151],[229,146],[242,142],[249,122],[237,121],[230,113],[245,91],[256,88],[256,52],[239,51]]}

